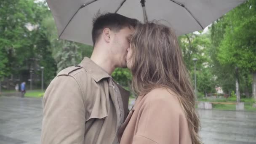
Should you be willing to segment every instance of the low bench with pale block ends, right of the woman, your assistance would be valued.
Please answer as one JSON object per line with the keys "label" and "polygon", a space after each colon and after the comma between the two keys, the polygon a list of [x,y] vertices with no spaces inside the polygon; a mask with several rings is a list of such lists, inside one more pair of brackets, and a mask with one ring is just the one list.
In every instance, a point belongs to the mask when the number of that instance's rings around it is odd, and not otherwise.
{"label": "low bench with pale block ends, right of the woman", "polygon": [[235,109],[237,111],[244,110],[244,103],[243,102],[208,102],[208,101],[198,101],[198,109],[213,109],[212,104],[234,104]]}

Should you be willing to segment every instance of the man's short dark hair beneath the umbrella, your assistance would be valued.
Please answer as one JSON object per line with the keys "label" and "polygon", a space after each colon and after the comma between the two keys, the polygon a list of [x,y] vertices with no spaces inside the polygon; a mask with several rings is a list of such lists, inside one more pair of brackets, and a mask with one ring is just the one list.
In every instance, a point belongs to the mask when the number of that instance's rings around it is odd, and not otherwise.
{"label": "man's short dark hair beneath the umbrella", "polygon": [[92,30],[92,39],[93,45],[99,39],[103,29],[109,28],[113,31],[120,31],[124,27],[135,28],[138,24],[138,20],[131,19],[125,16],[122,16],[118,13],[98,13],[93,19],[93,30]]}

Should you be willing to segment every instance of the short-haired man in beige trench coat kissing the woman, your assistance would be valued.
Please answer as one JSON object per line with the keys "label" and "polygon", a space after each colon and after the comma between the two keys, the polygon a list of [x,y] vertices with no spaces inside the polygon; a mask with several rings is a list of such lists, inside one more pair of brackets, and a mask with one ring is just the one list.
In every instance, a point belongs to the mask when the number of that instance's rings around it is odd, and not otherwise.
{"label": "short-haired man in beige trench coat kissing the woman", "polygon": [[126,67],[129,40],[138,21],[106,13],[93,21],[93,53],[62,70],[43,97],[42,144],[117,144],[128,114],[129,92],[111,74]]}

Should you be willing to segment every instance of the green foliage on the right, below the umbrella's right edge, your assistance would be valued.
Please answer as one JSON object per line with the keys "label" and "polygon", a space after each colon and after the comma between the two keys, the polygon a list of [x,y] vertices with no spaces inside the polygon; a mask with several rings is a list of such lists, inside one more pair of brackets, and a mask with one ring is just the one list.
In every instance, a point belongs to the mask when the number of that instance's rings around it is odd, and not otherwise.
{"label": "green foliage on the right, below the umbrella's right edge", "polygon": [[250,72],[256,71],[256,1],[248,0],[211,26],[213,73],[225,92],[235,89],[239,68],[240,91],[251,92]]}

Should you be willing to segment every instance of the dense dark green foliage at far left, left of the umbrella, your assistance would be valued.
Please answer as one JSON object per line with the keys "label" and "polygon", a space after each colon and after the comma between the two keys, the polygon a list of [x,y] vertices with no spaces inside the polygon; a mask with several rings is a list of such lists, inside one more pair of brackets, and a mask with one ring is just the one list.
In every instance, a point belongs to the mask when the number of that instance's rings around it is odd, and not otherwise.
{"label": "dense dark green foliage at far left, left of the umbrella", "polygon": [[[54,77],[56,64],[41,27],[48,11],[45,4],[34,0],[0,2],[0,78],[20,75],[34,67],[35,61],[39,67],[45,67],[46,84]],[[35,73],[40,75],[36,69]]]}

